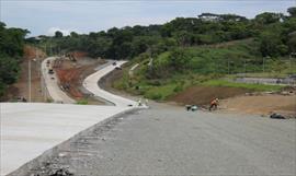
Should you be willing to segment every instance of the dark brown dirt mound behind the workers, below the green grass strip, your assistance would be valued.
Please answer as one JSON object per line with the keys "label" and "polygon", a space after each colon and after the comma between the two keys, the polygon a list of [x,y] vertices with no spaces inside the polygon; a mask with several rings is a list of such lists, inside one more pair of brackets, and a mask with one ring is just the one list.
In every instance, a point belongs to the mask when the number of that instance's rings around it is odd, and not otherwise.
{"label": "dark brown dirt mound behind the workers, below the green grass strip", "polygon": [[238,87],[193,86],[173,96],[170,101],[181,104],[208,105],[215,97],[224,99],[242,95],[247,92],[249,91]]}

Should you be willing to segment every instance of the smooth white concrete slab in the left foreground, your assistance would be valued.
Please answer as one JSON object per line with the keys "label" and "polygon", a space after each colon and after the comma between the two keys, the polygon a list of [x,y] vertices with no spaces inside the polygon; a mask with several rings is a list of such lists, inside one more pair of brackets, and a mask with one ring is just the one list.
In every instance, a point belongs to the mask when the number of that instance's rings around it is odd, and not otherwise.
{"label": "smooth white concrete slab in the left foreground", "polygon": [[9,174],[73,134],[128,108],[1,103],[1,175]]}

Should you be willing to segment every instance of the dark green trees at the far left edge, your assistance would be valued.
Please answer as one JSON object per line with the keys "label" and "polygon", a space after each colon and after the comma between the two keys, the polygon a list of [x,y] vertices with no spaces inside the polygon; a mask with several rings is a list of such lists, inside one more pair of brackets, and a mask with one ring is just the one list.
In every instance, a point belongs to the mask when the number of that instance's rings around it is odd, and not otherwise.
{"label": "dark green trees at the far left edge", "polygon": [[27,33],[29,31],[22,28],[7,28],[0,22],[0,97],[19,77]]}

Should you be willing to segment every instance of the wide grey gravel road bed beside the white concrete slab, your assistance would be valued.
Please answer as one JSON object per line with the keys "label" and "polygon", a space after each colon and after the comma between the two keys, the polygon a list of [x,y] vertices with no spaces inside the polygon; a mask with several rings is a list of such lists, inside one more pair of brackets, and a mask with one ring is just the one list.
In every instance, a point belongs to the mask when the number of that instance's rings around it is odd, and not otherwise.
{"label": "wide grey gravel road bed beside the white concrete slab", "polygon": [[295,176],[295,119],[152,107],[114,117],[11,175]]}

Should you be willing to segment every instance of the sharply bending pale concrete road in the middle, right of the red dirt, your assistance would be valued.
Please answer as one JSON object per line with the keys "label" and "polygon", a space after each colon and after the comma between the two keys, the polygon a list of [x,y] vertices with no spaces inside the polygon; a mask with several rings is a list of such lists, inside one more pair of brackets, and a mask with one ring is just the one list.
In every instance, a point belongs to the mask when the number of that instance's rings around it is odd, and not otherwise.
{"label": "sharply bending pale concrete road in the middle, right of the red dirt", "polygon": [[106,91],[102,90],[98,85],[98,82],[99,82],[100,79],[102,79],[104,75],[110,73],[116,67],[121,67],[125,62],[126,61],[116,61],[116,66],[107,64],[106,67],[102,68],[101,70],[96,71],[95,73],[89,75],[83,81],[83,86],[88,91],[93,93],[94,95],[100,96],[100,97],[113,103],[115,106],[121,106],[121,107],[133,106],[133,107],[136,107],[137,106],[136,102],[127,99],[127,98],[118,96],[118,95],[111,94],[110,92],[106,92]]}

